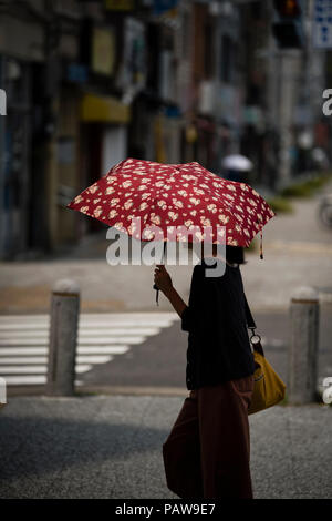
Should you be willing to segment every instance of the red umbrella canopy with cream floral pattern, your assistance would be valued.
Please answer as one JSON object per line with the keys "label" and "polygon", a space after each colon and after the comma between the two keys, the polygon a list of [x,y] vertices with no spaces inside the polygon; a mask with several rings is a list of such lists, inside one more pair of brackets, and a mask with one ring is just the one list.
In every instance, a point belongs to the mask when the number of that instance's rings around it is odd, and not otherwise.
{"label": "red umbrella canopy with cream floral pattern", "polygon": [[[165,235],[170,228],[185,226],[194,231],[194,237],[178,233],[176,241],[207,239],[230,246],[249,246],[274,215],[248,184],[224,180],[199,163],[135,159],[113,166],[68,206],[139,241],[157,239],[156,225]],[[134,217],[141,218],[141,229]],[[216,225],[226,226],[226,241],[219,241]],[[212,227],[212,235],[206,236],[205,226]]]}

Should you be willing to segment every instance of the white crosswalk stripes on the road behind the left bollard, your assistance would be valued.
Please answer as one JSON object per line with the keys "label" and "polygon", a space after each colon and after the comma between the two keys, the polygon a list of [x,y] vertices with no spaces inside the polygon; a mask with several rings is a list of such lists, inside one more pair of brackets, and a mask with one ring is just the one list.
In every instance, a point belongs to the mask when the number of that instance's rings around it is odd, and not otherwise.
{"label": "white crosswalk stripes on the road behind the left bollard", "polygon": [[[76,372],[112,361],[178,319],[164,311],[80,314]],[[0,316],[0,376],[8,386],[46,384],[49,341],[50,315]]]}

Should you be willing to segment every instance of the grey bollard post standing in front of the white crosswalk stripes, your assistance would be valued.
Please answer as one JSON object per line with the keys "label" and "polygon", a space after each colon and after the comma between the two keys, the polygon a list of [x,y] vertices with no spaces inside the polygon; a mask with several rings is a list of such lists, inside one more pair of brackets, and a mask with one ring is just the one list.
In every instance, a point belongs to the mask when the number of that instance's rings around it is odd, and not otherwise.
{"label": "grey bollard post standing in front of the white crosswalk stripes", "polygon": [[48,395],[74,394],[79,313],[79,285],[71,279],[58,280],[51,302]]}

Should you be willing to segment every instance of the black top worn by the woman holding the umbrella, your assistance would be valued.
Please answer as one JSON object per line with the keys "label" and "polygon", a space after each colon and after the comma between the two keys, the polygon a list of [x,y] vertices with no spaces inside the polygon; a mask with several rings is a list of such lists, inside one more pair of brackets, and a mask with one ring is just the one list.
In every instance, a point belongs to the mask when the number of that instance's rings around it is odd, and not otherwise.
{"label": "black top worn by the woman holding the umbrella", "polygon": [[253,355],[246,321],[245,294],[238,265],[222,265],[221,276],[206,276],[210,265],[194,267],[181,329],[188,331],[187,389],[252,375]]}

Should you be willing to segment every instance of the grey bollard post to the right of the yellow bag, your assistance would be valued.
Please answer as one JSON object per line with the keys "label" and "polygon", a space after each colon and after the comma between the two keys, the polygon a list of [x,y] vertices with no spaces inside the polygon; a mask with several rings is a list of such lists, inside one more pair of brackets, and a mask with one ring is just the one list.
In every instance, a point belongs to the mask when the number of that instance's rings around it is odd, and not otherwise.
{"label": "grey bollard post to the right of the yellow bag", "polygon": [[312,287],[300,287],[291,299],[291,337],[289,348],[290,403],[317,400],[319,356],[319,295]]}

